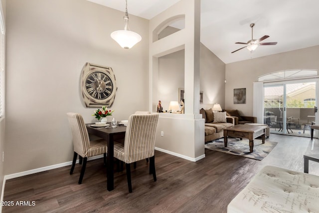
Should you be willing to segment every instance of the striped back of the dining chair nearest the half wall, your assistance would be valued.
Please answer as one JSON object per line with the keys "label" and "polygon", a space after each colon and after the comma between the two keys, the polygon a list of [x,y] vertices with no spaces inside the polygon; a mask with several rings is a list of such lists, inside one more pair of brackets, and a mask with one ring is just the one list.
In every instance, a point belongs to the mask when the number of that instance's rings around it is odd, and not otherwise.
{"label": "striped back of the dining chair nearest the half wall", "polygon": [[129,117],[124,141],[125,163],[154,156],[158,120],[159,114],[134,114]]}

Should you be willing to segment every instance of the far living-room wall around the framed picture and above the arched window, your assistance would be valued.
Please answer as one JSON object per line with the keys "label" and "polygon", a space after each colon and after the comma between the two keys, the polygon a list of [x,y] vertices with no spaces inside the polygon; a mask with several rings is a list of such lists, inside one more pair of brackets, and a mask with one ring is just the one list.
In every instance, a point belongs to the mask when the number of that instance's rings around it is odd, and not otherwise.
{"label": "far living-room wall around the framed picture and above the arched window", "polygon": [[[257,81],[258,76],[289,69],[319,70],[318,56],[319,46],[313,46],[226,64],[226,108],[238,109],[242,115],[252,116],[253,82]],[[233,93],[236,88],[246,88],[246,104],[234,104]]]}

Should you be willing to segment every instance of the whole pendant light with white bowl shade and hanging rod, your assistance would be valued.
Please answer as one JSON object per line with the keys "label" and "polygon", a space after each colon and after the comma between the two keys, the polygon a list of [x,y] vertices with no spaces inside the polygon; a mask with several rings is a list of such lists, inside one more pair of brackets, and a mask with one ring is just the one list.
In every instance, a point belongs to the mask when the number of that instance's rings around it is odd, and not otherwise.
{"label": "whole pendant light with white bowl shade and hanging rod", "polygon": [[130,31],[129,27],[129,13],[128,13],[128,1],[125,5],[125,15],[124,15],[124,30],[117,30],[111,33],[111,37],[120,44],[124,49],[130,49],[135,44],[142,40],[141,35],[136,32]]}

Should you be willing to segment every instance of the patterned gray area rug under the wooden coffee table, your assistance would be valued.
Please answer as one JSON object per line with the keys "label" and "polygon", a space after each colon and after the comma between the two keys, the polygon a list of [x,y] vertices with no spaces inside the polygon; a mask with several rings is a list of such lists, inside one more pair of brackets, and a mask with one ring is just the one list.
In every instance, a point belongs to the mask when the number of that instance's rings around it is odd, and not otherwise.
{"label": "patterned gray area rug under the wooden coffee table", "polygon": [[224,147],[224,139],[217,139],[205,144],[206,149],[223,152],[231,155],[251,158],[255,160],[263,160],[277,145],[278,142],[265,141],[262,144],[261,140],[254,140],[253,152],[249,152],[249,140],[242,141],[237,138],[228,138],[227,147]]}

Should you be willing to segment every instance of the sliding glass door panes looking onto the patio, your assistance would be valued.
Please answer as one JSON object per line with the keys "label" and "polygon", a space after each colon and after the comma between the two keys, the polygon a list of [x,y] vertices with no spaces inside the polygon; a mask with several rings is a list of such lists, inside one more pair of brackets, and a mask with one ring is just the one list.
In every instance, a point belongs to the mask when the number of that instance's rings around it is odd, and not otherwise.
{"label": "sliding glass door panes looking onto the patio", "polygon": [[317,80],[264,84],[264,123],[271,132],[310,137]]}

